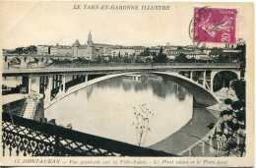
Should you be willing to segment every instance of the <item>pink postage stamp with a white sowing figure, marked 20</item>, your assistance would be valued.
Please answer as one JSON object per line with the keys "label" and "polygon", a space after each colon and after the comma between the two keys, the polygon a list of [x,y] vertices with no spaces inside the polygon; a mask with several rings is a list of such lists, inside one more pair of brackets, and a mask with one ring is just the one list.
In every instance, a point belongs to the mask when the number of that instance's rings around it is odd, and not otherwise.
{"label": "pink postage stamp with a white sowing figure, marked 20", "polygon": [[236,9],[194,8],[194,42],[235,43]]}

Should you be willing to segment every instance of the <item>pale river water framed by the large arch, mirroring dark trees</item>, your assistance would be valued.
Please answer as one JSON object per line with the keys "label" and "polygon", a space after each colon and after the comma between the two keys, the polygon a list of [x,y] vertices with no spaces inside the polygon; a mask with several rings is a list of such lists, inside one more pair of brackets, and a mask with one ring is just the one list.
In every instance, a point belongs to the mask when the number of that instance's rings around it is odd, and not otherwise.
{"label": "pale river water framed by the large arch, mirroring dark trees", "polygon": [[171,81],[122,77],[102,81],[77,91],[45,111],[45,117],[58,125],[73,125],[84,133],[137,144],[134,108],[141,104],[154,113],[149,146],[178,131],[192,118],[193,97]]}

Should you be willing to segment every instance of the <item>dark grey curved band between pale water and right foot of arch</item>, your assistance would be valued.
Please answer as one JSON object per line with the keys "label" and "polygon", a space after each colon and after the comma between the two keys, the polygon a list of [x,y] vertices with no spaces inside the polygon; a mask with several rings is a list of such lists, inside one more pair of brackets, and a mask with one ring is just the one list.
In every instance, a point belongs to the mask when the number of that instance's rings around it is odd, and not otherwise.
{"label": "dark grey curved band between pale water and right foot of arch", "polygon": [[[194,107],[193,117],[185,126],[166,139],[149,146],[149,148],[178,154],[198,140],[203,139],[210,132],[209,124],[217,121],[218,119],[206,108]],[[202,155],[200,151],[194,152],[195,155]]]}

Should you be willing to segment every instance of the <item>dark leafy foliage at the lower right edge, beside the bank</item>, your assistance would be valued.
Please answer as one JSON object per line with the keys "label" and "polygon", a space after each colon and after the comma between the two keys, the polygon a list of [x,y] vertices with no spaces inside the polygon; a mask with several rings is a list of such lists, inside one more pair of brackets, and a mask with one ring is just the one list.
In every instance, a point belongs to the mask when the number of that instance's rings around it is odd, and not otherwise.
{"label": "dark leafy foliage at the lower right edge, beside the bank", "polygon": [[[224,99],[225,108],[220,114],[216,132],[211,139],[218,140],[216,147],[219,153],[226,156],[235,155],[242,157],[245,152],[245,83],[237,81],[232,85],[238,100]],[[214,129],[211,123],[209,129]]]}

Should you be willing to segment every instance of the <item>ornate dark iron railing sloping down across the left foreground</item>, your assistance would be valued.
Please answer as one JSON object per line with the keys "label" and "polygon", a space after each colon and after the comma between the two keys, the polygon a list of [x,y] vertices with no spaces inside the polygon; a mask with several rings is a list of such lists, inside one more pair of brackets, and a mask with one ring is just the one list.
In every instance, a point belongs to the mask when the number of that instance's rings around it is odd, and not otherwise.
{"label": "ornate dark iron railing sloping down across the left foreground", "polygon": [[9,113],[3,112],[2,117],[3,156],[175,156],[15,115],[11,117]]}

